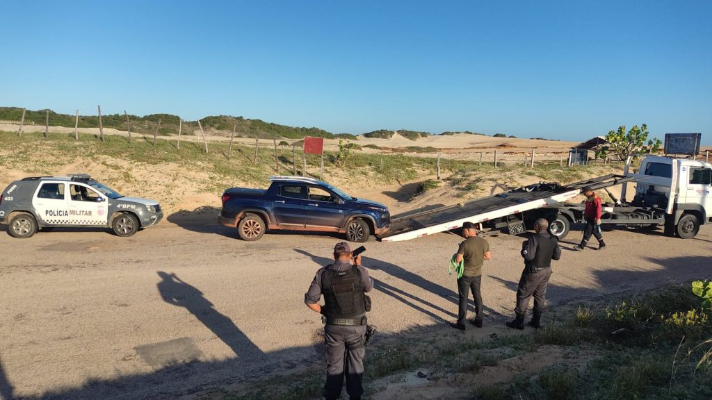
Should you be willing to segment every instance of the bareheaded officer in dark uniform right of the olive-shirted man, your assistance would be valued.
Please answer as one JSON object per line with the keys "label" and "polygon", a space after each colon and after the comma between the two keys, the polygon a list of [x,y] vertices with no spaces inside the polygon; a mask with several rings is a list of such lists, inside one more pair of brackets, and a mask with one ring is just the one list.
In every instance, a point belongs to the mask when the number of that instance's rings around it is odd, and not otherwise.
{"label": "bareheaded officer in dark uniform right of the olive-shirted man", "polygon": [[544,312],[546,288],[551,277],[551,260],[561,258],[559,239],[547,232],[549,222],[543,218],[536,220],[534,235],[525,241],[521,255],[524,258],[524,270],[517,288],[517,307],[515,319],[507,326],[518,330],[524,329],[524,316],[529,307],[529,299],[534,296],[532,319],[527,325],[536,329],[541,327],[541,315]]}

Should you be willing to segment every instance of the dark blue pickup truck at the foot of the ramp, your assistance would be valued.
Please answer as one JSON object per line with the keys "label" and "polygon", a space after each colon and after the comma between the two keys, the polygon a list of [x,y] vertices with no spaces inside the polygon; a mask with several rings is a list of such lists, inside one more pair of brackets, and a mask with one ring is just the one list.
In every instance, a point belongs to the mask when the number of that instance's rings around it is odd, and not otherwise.
{"label": "dark blue pickup truck at the foot of the ramp", "polygon": [[345,233],[365,242],[391,225],[388,208],[356,199],[330,184],[304,177],[271,177],[269,189],[227,189],[218,222],[237,228],[240,238],[256,241],[269,229]]}

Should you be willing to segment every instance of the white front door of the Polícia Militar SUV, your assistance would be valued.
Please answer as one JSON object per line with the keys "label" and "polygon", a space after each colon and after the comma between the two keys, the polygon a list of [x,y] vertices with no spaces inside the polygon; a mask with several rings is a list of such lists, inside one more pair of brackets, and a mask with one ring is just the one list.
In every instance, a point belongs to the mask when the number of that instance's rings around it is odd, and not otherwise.
{"label": "white front door of the Pol\u00edcia Militar SUV", "polygon": [[71,182],[69,184],[69,221],[72,225],[105,226],[108,201],[93,187]]}

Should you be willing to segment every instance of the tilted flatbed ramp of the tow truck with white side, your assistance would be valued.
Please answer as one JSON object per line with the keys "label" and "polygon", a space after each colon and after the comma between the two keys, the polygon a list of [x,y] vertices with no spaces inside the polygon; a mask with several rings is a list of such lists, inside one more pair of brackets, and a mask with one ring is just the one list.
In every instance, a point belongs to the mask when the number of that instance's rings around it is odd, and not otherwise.
{"label": "tilted flatbed ramp of the tow truck with white side", "polygon": [[562,203],[580,194],[581,189],[586,186],[597,190],[632,180],[635,178],[609,174],[567,185],[533,184],[454,206],[444,206],[415,214],[401,214],[393,216],[390,230],[379,236],[379,239],[384,242],[407,241],[459,228],[465,221],[485,222]]}

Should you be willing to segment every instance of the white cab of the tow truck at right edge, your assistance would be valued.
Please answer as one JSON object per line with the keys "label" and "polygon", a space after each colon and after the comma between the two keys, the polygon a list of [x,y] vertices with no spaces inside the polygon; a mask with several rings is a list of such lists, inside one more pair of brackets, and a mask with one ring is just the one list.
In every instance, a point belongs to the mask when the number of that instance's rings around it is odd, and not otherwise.
{"label": "white cab of the tow truck at right edge", "polygon": [[638,178],[633,204],[664,209],[666,230],[691,238],[700,225],[712,222],[712,164],[647,156],[637,173],[627,175]]}

